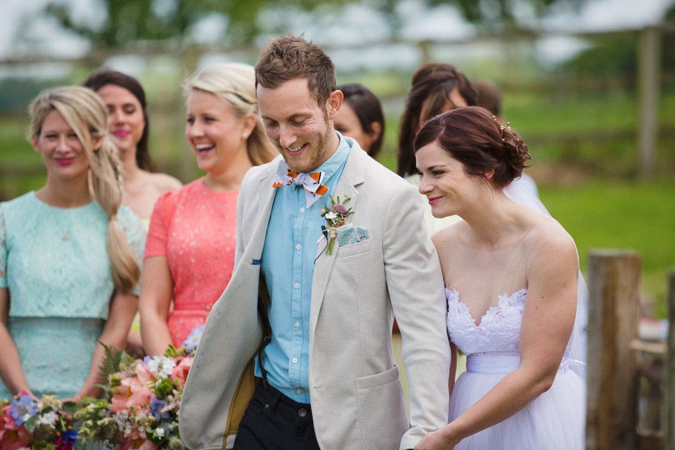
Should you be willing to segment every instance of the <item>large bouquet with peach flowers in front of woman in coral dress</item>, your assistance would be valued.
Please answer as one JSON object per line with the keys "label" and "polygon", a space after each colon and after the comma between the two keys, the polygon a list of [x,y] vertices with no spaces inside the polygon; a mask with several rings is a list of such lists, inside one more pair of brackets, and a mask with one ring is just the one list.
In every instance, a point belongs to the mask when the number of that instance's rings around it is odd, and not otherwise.
{"label": "large bouquet with peach flowers in front of woman in coral dress", "polygon": [[182,347],[169,345],[163,356],[133,359],[107,348],[101,367],[105,396],[82,401],[75,413],[82,423],[79,439],[109,450],[184,449],[178,413],[202,331],[195,328]]}

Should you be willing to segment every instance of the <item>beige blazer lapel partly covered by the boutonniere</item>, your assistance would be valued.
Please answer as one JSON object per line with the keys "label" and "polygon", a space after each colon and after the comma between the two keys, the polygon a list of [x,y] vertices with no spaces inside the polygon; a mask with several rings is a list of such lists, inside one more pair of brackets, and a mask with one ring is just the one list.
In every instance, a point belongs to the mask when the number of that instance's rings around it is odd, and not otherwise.
{"label": "beige blazer lapel partly covered by the boutonniere", "polygon": [[[370,158],[361,150],[358,145],[352,146],[349,151],[345,169],[342,170],[342,176],[335,188],[335,192],[331,193],[340,195],[340,198],[345,195],[352,200],[349,200],[347,207],[352,207],[354,210],[358,207],[359,191],[356,191],[356,186],[363,183],[366,175],[366,159]],[[316,253],[316,263],[314,264],[314,276],[311,281],[311,307],[309,309],[309,330],[314,331],[316,328],[316,321],[319,320],[319,312],[321,311],[321,304],[323,303],[323,296],[326,295],[326,287],[328,286],[328,279],[330,278],[330,271],[333,270],[335,258],[340,252],[340,245],[333,246],[333,255],[326,254],[326,245],[319,245]]]}

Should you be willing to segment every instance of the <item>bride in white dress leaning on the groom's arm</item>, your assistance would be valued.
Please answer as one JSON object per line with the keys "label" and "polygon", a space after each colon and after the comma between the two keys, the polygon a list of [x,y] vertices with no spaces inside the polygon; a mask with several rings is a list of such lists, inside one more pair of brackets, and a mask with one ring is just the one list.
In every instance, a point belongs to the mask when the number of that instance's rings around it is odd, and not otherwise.
{"label": "bride in white dress leaning on the groom's arm", "polygon": [[449,423],[428,449],[583,449],[585,385],[571,370],[579,261],[555,219],[510,200],[527,147],[478,107],[429,120],[416,136],[420,193],[438,231],[451,342],[467,354]]}

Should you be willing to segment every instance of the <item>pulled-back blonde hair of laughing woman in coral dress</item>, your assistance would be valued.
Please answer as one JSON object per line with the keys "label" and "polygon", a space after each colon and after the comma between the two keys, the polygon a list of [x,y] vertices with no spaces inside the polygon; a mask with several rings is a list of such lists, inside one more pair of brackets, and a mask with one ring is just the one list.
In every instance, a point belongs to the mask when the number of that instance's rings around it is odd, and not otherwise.
{"label": "pulled-back blonde hair of laughing woman in coral dress", "polygon": [[246,142],[248,159],[253,165],[269,162],[277,155],[274,146],[265,135],[255,97],[255,71],[244,63],[222,63],[207,66],[190,75],[183,83],[187,98],[193,89],[214,94],[226,101],[237,115],[255,114],[255,128]]}

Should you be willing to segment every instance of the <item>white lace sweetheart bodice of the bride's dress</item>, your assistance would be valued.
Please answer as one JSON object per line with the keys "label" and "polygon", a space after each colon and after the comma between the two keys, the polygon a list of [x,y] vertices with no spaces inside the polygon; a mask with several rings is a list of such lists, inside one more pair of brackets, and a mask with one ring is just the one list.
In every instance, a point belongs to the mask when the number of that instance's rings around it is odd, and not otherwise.
{"label": "white lace sweetheart bodice of the bride's dress", "polygon": [[518,354],[522,310],[527,289],[500,295],[476,325],[468,307],[454,289],[445,290],[448,299],[448,334],[464,354]]}

